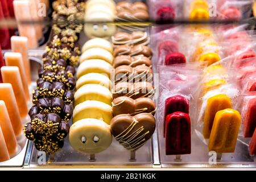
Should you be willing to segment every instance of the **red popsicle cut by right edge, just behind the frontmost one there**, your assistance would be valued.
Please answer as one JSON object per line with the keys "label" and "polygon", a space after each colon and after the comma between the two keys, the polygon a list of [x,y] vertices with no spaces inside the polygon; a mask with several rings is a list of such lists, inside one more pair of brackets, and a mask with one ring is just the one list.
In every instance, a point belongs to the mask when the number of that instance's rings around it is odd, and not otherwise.
{"label": "red popsicle cut by right edge, just behind the frontmost one there", "polygon": [[245,120],[243,121],[243,136],[246,138],[253,137],[256,128],[256,98],[251,98],[247,103]]}

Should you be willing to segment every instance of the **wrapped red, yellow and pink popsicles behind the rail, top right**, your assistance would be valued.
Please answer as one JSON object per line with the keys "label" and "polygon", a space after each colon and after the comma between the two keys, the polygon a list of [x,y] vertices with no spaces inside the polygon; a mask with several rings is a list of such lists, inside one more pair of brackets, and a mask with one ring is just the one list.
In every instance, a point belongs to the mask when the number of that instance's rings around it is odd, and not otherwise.
{"label": "wrapped red, yellow and pink popsicles behind the rail, top right", "polygon": [[[240,3],[233,0],[148,0],[150,17],[158,22],[175,19],[241,19],[250,15],[251,2]],[[248,17],[246,17],[248,18]]]}

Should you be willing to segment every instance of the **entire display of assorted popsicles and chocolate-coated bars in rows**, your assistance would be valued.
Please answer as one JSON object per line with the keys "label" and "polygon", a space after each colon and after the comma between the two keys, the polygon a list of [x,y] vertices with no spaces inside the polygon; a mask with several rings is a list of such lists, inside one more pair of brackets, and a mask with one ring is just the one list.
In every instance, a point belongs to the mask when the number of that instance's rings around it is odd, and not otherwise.
{"label": "entire display of assorted popsicles and chocolate-coated bars in rows", "polygon": [[251,3],[0,0],[0,166],[255,166]]}

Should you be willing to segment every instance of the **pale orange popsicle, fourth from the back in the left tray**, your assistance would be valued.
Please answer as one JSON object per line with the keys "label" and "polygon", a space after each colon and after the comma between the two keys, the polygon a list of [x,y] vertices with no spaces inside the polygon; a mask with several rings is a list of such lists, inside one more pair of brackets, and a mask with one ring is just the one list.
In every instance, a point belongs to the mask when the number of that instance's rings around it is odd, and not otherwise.
{"label": "pale orange popsicle, fourth from the back in the left tray", "polygon": [[15,136],[19,137],[22,134],[23,126],[11,84],[0,84],[0,100],[5,102]]}

